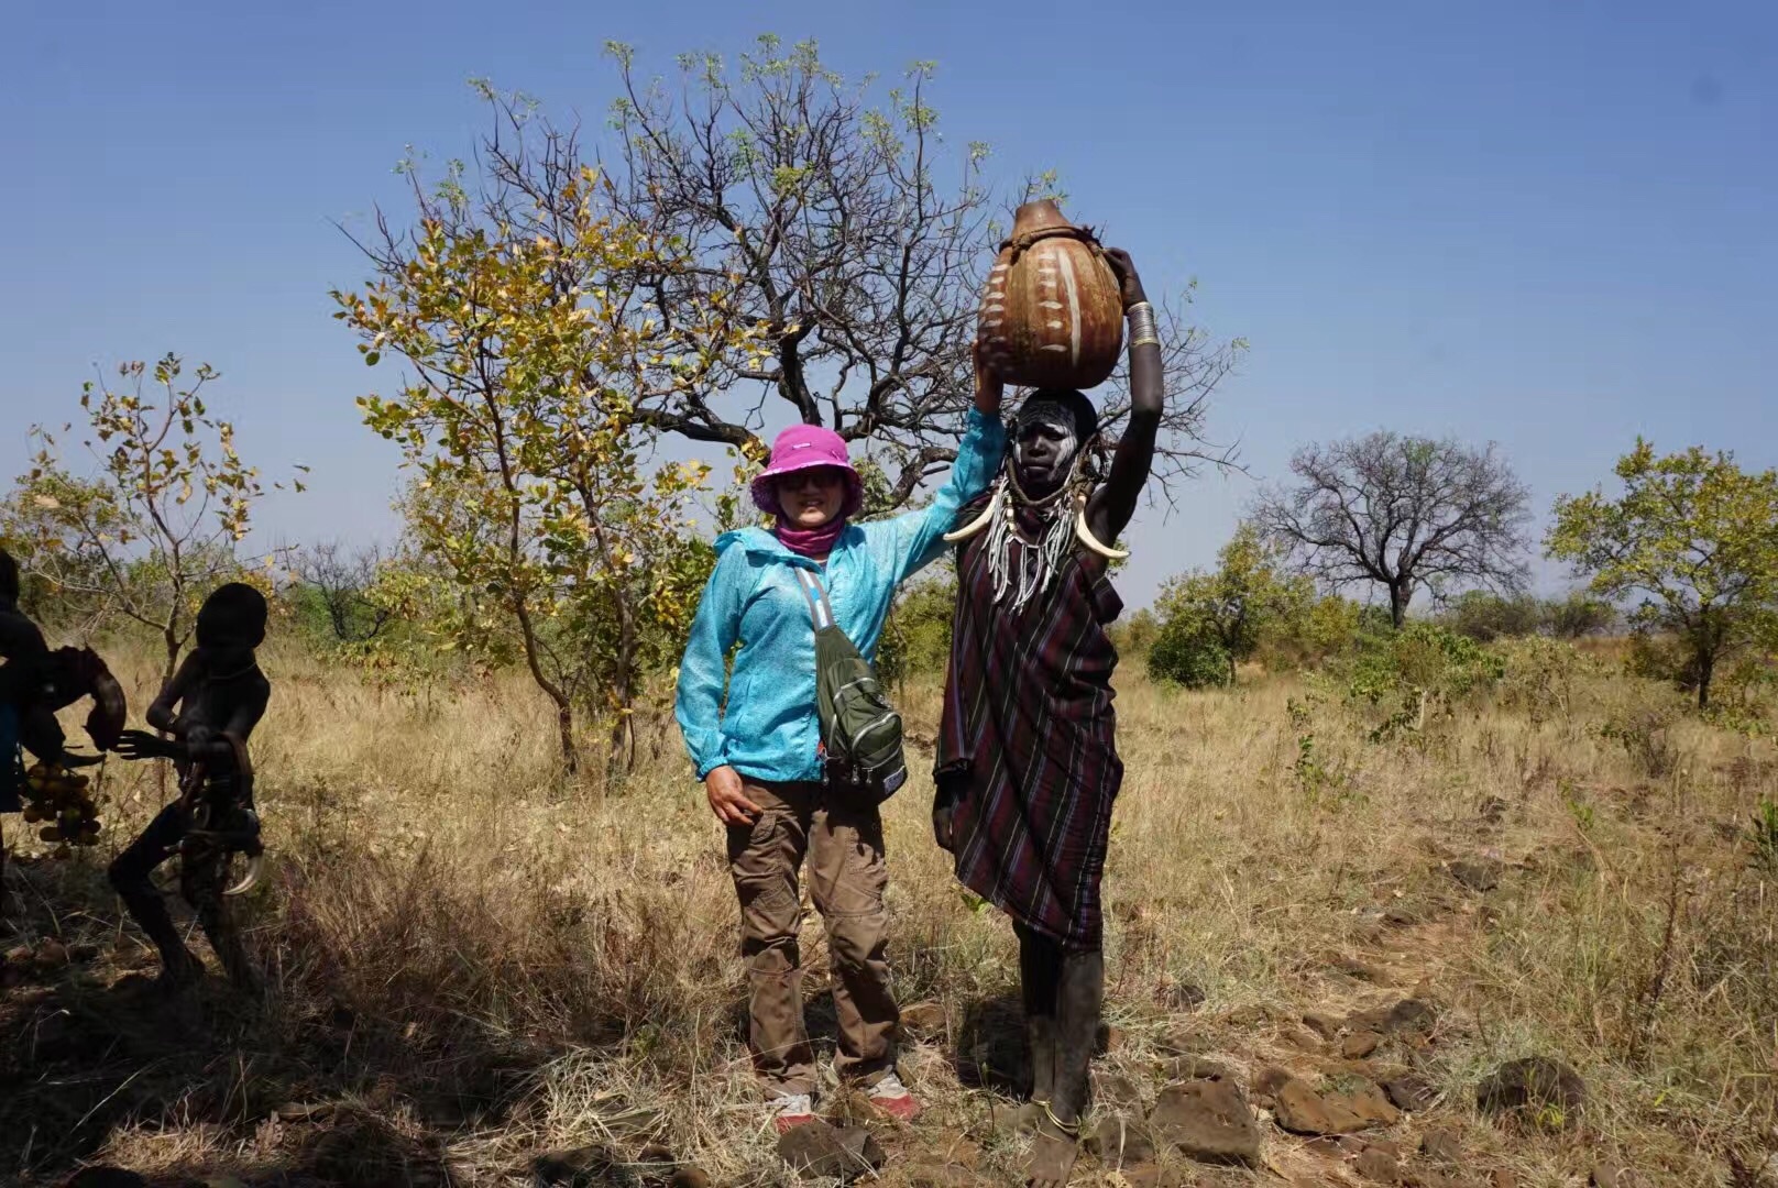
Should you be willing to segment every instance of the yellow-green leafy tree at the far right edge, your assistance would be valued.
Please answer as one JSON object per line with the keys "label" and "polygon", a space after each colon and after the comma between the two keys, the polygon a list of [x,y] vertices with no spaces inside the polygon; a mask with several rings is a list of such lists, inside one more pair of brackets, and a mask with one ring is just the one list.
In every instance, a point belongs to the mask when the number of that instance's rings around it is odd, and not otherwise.
{"label": "yellow-green leafy tree at the far right edge", "polygon": [[1778,628],[1778,471],[1691,446],[1657,457],[1638,437],[1618,459],[1623,494],[1556,500],[1545,550],[1604,599],[1641,596],[1630,624],[1673,631],[1691,653],[1698,708],[1725,656]]}

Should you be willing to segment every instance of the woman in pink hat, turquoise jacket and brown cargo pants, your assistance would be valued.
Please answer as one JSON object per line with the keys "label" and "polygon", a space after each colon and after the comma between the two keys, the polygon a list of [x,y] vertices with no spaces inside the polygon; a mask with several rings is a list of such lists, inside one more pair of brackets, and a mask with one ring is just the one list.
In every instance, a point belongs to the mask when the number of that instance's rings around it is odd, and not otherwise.
{"label": "woman in pink hat, turquoise jacket and brown cargo pants", "polygon": [[[729,831],[750,982],[749,1044],[779,1129],[814,1115],[797,953],[804,857],[839,975],[836,1072],[894,1117],[919,1113],[894,1071],[900,1010],[884,957],[882,818],[875,804],[825,795],[814,624],[797,569],[820,574],[834,621],[875,660],[896,587],[944,551],[957,512],[999,471],[999,382],[978,363],[976,402],[949,480],[928,507],[873,523],[852,523],[864,493],[845,439],[818,425],[786,429],[752,487],[775,526],[717,539],[717,569],[679,665],[676,717],[709,807]],[[724,699],[724,660],[736,642]]]}

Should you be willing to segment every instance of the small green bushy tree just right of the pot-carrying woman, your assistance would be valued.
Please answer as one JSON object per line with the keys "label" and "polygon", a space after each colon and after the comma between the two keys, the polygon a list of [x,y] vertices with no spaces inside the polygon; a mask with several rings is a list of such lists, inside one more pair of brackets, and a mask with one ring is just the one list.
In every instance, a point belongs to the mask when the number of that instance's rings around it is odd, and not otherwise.
{"label": "small green bushy tree just right of the pot-carrying woman", "polygon": [[1189,573],[1161,587],[1161,633],[1149,670],[1186,686],[1232,685],[1236,665],[1259,649],[1266,631],[1312,598],[1312,583],[1284,573],[1280,553],[1255,525],[1243,523],[1216,553],[1213,573]]}

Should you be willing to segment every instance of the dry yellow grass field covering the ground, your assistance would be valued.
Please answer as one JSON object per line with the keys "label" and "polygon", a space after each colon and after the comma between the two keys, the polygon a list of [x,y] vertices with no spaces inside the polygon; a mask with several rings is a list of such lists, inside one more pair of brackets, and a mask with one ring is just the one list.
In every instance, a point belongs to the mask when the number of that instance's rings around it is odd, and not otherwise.
{"label": "dry yellow grass field covering the ground", "polygon": [[[276,877],[245,918],[267,1003],[148,991],[103,863],[160,791],[107,765],[103,845],[53,863],[23,843],[9,873],[28,914],[0,991],[0,1181],[107,1163],[164,1184],[530,1184],[567,1149],[585,1184],[789,1179],[738,1031],[720,829],[670,722],[644,729],[621,788],[562,784],[517,678],[404,694],[288,644],[263,663]],[[119,667],[139,711],[151,663]],[[937,690],[905,702],[930,738]],[[1778,1184],[1760,1172],[1778,855],[1750,829],[1778,800],[1773,740],[1604,663],[1510,678],[1389,743],[1294,676],[1166,694],[1129,672],[1118,711],[1095,1110],[1140,1129],[1170,1081],[1214,1074],[1262,1147],[1246,1167],[1083,1158],[1076,1183],[1558,1188],[1614,1161],[1646,1184]],[[901,1128],[823,1104],[873,1129],[882,1183],[1019,1183],[1022,1140],[996,1128],[1019,1076],[1013,941],[949,877],[928,797],[916,779],[889,806],[903,1076],[928,1112]],[[813,912],[804,957],[830,1044]],[[1403,999],[1426,1008],[1389,1015]],[[1572,1065],[1584,1108],[1479,1112],[1478,1083],[1520,1056]],[[1273,1069],[1321,1092],[1414,1076],[1424,1099],[1310,1140],[1277,1124]]]}

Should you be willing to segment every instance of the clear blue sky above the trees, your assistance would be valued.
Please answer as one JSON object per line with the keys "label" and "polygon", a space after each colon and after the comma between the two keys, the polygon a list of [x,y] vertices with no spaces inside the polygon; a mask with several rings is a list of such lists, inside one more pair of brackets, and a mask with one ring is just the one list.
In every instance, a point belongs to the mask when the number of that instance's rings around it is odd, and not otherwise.
{"label": "clear blue sky above the trees", "polygon": [[[0,471],[94,365],[171,349],[222,370],[249,461],[313,466],[265,537],[391,535],[396,455],[352,400],[395,373],[329,318],[364,277],[334,221],[398,208],[404,146],[473,148],[469,76],[597,123],[606,39],[670,71],[765,30],[846,75],[937,60],[958,149],[1058,167],[1150,292],[1198,277],[1252,341],[1211,430],[1255,478],[1378,427],[1499,441],[1540,516],[1638,432],[1778,462],[1778,5],[100,0],[23,5],[0,46]],[[1145,516],[1127,601],[1252,489]]]}

